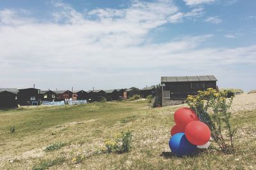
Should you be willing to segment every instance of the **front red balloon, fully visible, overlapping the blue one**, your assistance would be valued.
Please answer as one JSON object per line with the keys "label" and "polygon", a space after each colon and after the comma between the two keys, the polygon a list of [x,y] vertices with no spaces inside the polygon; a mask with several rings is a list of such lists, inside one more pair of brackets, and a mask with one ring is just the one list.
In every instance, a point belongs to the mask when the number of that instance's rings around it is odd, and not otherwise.
{"label": "front red balloon, fully visible, overlapping the blue one", "polygon": [[186,126],[185,136],[194,145],[205,145],[211,138],[211,131],[204,122],[194,121]]}

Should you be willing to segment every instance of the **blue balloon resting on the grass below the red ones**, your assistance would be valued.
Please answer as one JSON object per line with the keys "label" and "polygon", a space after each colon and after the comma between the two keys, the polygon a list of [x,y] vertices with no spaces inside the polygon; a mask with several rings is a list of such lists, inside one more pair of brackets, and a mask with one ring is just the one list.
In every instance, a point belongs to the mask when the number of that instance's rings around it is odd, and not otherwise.
{"label": "blue balloon resting on the grass below the red ones", "polygon": [[185,133],[174,134],[169,141],[169,146],[172,152],[175,153],[178,157],[182,157],[183,155],[190,155],[196,150],[196,145],[189,143]]}

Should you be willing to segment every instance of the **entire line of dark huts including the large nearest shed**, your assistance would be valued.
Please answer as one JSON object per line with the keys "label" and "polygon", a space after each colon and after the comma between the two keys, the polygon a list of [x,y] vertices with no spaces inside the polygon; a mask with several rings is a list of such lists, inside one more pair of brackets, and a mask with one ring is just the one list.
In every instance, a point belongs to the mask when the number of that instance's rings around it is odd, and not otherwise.
{"label": "entire line of dark huts including the large nearest shed", "polygon": [[218,89],[218,80],[213,75],[205,76],[162,76],[161,83],[143,89],[113,89],[113,90],[40,90],[0,88],[0,108],[15,108],[18,106],[33,106],[40,104],[80,104],[97,101],[118,101],[129,99],[134,94],[146,98],[154,97],[153,106],[171,106],[185,103],[188,95],[195,95],[198,90]]}

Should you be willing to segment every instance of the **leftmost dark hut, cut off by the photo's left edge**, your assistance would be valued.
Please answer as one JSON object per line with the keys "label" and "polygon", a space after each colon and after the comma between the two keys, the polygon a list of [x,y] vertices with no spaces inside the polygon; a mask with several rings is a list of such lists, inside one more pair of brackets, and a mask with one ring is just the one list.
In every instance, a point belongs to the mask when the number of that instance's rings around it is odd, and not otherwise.
{"label": "leftmost dark hut, cut off by the photo's left edge", "polygon": [[13,88],[0,88],[0,109],[17,108],[18,92]]}

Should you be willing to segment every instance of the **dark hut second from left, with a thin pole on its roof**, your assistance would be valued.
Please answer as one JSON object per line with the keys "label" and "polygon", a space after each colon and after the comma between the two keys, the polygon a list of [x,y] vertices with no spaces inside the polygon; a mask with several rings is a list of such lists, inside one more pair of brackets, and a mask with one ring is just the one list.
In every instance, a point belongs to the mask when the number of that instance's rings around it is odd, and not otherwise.
{"label": "dark hut second from left, with a thin pole on its roof", "polygon": [[40,104],[40,89],[19,89],[18,103],[21,106],[37,106]]}

